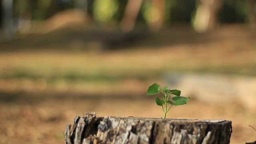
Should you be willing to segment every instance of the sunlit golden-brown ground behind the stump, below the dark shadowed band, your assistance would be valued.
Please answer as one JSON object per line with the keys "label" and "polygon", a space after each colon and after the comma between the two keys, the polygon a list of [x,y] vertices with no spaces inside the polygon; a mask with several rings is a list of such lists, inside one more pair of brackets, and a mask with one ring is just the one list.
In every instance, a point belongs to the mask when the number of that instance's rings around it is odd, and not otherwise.
{"label": "sunlit golden-brown ground behind the stump, below the dark shadowed band", "polygon": [[[22,40],[0,46],[17,48]],[[255,40],[255,33],[240,25],[208,34],[174,28],[136,42],[140,45],[134,48],[104,52],[2,51],[0,143],[63,144],[66,124],[83,112],[162,117],[161,107],[154,96],[146,96],[146,90],[154,82],[164,84],[164,71],[255,76]],[[256,128],[255,109],[237,100],[212,104],[191,97],[188,104],[172,107],[167,118],[232,120],[231,144],[256,140],[256,132],[248,126]]]}

